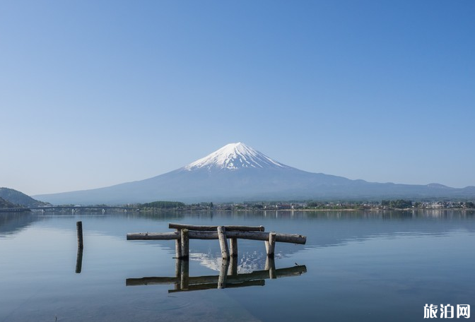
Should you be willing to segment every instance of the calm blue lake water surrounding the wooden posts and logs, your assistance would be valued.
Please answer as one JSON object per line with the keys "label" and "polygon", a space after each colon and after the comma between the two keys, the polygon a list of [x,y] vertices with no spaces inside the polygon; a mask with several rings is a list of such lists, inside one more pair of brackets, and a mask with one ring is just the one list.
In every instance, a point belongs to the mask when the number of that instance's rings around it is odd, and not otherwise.
{"label": "calm blue lake water surrounding the wooden posts and logs", "polygon": [[[173,292],[173,282],[127,286],[128,279],[175,276],[174,241],[125,238],[167,232],[168,222],[305,234],[306,245],[276,245],[275,266],[305,265],[307,272],[224,290]],[[0,322],[423,321],[425,304],[475,310],[474,244],[474,213],[457,211],[0,214]],[[190,277],[219,275],[217,240],[193,239],[190,251]],[[265,261],[262,241],[240,240],[239,274],[264,270]]]}

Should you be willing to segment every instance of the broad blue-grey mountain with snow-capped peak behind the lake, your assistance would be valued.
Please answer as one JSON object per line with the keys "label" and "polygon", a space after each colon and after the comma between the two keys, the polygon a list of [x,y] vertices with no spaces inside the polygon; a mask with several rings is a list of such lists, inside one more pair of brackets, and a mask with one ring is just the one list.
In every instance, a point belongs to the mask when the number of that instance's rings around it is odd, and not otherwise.
{"label": "broad blue-grey mountain with snow-capped peak behind the lake", "polygon": [[380,184],[283,165],[244,143],[230,143],[180,169],[100,189],[35,196],[53,204],[124,204],[158,200],[252,201],[473,198],[475,186]]}

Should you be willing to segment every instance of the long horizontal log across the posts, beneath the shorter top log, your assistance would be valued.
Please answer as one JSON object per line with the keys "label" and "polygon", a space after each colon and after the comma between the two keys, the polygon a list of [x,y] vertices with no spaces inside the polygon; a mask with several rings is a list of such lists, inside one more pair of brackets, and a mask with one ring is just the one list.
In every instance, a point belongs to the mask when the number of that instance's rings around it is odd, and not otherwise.
{"label": "long horizontal log across the posts, beneath the shorter top log", "polygon": [[[218,232],[189,231],[189,239],[218,239]],[[269,241],[269,232],[226,232],[227,238],[240,238]],[[135,232],[127,234],[127,240],[167,240],[180,239],[177,232]],[[276,241],[292,244],[305,244],[307,237],[300,234],[279,234],[276,233]]]}

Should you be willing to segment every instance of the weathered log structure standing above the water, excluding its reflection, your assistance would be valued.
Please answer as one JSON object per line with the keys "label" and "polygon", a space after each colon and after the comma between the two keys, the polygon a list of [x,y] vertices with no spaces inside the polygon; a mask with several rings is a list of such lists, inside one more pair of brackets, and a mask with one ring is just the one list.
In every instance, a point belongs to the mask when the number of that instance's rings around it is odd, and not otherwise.
{"label": "weathered log structure standing above the water, excluding its reflection", "polygon": [[[307,237],[300,234],[264,232],[262,226],[197,226],[170,223],[175,232],[135,232],[127,234],[127,240],[172,240],[175,239],[176,258],[189,258],[189,239],[218,239],[224,259],[238,256],[238,239],[264,241],[266,254],[274,257],[276,242],[305,244]],[[228,246],[230,239],[230,247]]]}

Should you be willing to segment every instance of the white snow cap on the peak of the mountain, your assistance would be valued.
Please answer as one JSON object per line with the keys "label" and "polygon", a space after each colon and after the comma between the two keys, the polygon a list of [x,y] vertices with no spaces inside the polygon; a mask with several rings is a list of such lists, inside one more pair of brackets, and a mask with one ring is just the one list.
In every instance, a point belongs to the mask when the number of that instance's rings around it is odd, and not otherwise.
{"label": "white snow cap on the peak of the mountain", "polygon": [[185,166],[184,169],[288,168],[244,143],[229,143],[223,148]]}

